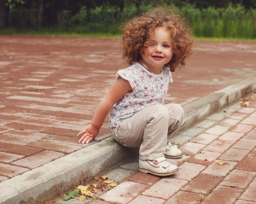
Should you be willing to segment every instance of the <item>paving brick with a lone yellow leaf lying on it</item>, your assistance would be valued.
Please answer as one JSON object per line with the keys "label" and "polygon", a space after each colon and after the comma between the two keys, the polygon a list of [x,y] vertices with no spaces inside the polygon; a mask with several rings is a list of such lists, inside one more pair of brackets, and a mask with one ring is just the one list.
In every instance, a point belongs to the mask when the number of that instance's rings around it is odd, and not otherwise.
{"label": "paving brick with a lone yellow leaf lying on it", "polygon": [[[225,162],[225,164],[217,164],[217,162]],[[204,169],[203,173],[215,176],[226,176],[227,173],[232,171],[236,167],[236,162],[229,162],[225,160],[215,160],[207,168]]]}

